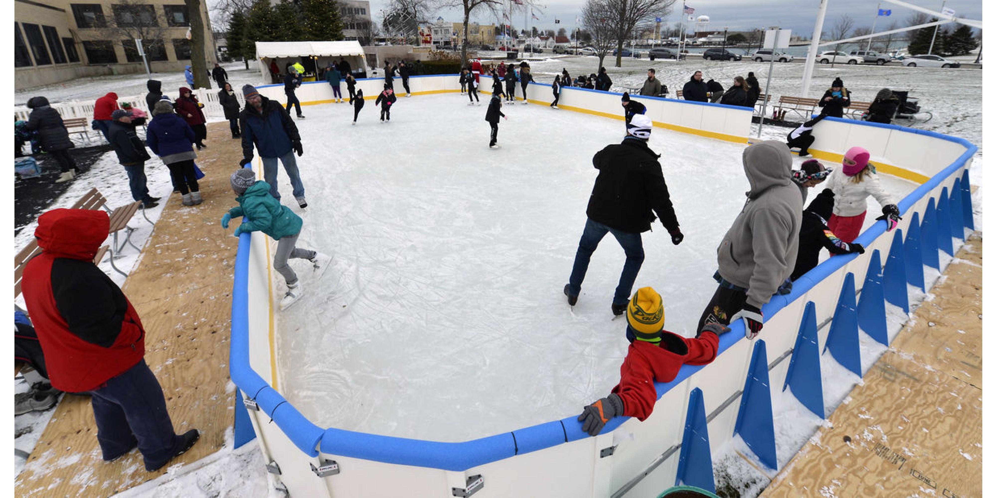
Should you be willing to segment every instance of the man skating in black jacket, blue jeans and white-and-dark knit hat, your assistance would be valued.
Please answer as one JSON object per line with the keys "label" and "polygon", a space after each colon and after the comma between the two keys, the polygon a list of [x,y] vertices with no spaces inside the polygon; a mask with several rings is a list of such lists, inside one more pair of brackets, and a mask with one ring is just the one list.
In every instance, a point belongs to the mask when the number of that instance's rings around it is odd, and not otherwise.
{"label": "man skating in black jacket, blue jeans and white-and-dark knit hat", "polygon": [[612,233],[626,253],[610,307],[613,315],[622,315],[630,300],[630,291],[644,262],[640,234],[651,229],[655,218],[652,211],[661,218],[661,224],[672,236],[672,243],[682,242],[679,221],[658,163],[659,155],[647,146],[652,125],[650,118],[634,116],[627,124],[627,136],[622,143],[607,145],[592,157],[599,175],[588,197],[585,211],[588,219],[578,241],[571,276],[564,286],[568,305],[574,306],[578,302],[588,262],[606,233]]}

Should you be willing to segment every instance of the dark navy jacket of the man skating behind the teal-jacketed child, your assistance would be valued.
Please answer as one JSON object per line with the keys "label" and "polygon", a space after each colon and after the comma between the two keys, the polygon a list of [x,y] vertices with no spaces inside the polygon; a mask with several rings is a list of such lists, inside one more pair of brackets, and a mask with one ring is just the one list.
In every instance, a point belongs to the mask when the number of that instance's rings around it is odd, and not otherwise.
{"label": "dark navy jacket of the man skating behind the teal-jacketed child", "polygon": [[257,112],[246,106],[239,113],[242,130],[242,157],[251,159],[253,143],[260,157],[280,157],[291,151],[294,141],[301,140],[298,126],[291,120],[284,107],[276,101],[260,97],[262,109]]}

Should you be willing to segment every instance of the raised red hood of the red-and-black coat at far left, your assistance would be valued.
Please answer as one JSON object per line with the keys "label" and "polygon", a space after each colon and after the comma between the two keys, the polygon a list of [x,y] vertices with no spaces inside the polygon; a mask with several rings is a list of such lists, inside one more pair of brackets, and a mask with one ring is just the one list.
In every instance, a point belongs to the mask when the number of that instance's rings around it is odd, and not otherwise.
{"label": "raised red hood of the red-and-black coat at far left", "polygon": [[38,217],[38,246],[57,258],[92,260],[108,238],[111,219],[104,210],[53,209]]}

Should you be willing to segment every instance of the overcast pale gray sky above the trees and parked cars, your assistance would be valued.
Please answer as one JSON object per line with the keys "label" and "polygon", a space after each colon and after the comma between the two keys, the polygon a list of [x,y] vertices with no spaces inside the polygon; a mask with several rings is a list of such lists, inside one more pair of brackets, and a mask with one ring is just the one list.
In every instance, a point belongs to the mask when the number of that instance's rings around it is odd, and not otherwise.
{"label": "overcast pale gray sky above the trees and parked cars", "polygon": [[[536,9],[535,14],[540,20],[529,19],[529,26],[536,26],[537,29],[575,28],[575,18],[579,16],[584,0],[539,0],[542,9]],[[879,8],[889,9],[889,17],[880,17],[876,24],[876,31],[885,30],[890,22],[895,21],[898,27],[906,25],[906,18],[912,10],[900,7],[889,2],[879,2],[876,0],[829,0],[828,15],[825,19],[824,30],[830,32],[831,27],[843,14],[848,14],[855,21],[855,27],[872,25],[876,14],[876,4],[881,4]],[[380,9],[388,6],[388,0],[371,0],[371,12],[374,22],[381,21]],[[906,0],[906,3],[932,9],[941,10],[940,0]],[[732,31],[748,31],[755,28],[769,28],[779,26],[784,29],[793,30],[794,35],[804,35],[807,38],[814,33],[814,22],[817,19],[817,11],[820,6],[819,0],[686,0],[686,5],[696,9],[695,16],[707,15],[710,17],[709,30],[722,31],[724,27]],[[981,0],[947,0],[946,7],[955,10],[956,16],[969,19],[982,19],[983,2]],[[679,11],[682,9],[682,0],[676,0],[672,13],[664,18],[662,24],[669,26],[679,22]],[[483,24],[498,24],[492,17],[484,16],[486,10],[479,15],[477,20]],[[462,11],[459,9],[444,10],[439,13],[447,21],[462,21]],[[474,17],[474,16],[473,16]],[[560,24],[554,24],[554,19],[560,20]],[[523,13],[513,14],[512,25],[516,29],[522,29]]]}

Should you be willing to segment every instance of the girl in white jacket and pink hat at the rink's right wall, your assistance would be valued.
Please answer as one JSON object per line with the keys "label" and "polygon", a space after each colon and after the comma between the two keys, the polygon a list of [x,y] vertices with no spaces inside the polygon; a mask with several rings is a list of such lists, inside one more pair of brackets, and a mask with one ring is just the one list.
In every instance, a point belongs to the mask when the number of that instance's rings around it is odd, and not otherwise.
{"label": "girl in white jacket and pink hat at the rink's right wall", "polygon": [[882,216],[888,229],[896,226],[900,211],[893,196],[879,184],[875,167],[869,163],[869,152],[862,147],[851,147],[844,153],[841,168],[835,169],[828,177],[826,188],[834,192],[834,209],[828,227],[840,240],[851,242],[862,230],[865,221],[866,203],[869,195],[882,206]]}

